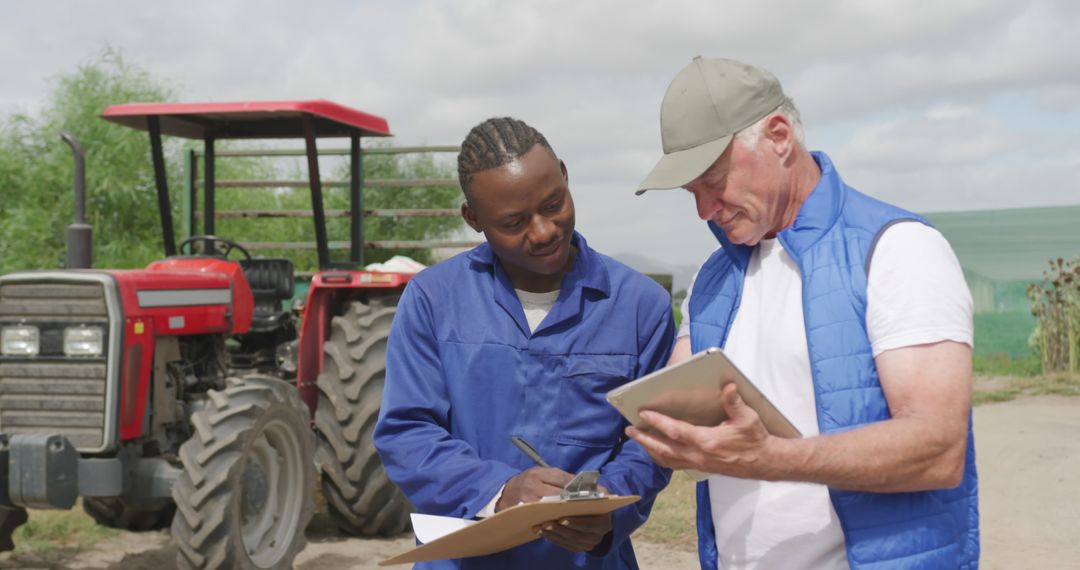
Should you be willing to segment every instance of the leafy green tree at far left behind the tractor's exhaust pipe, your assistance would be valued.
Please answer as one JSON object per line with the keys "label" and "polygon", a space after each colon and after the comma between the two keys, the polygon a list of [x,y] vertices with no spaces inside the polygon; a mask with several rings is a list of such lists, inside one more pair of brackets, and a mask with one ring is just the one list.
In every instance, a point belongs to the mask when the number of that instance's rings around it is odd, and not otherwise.
{"label": "leafy green tree at far left behind the tractor's exhaust pipe", "polygon": [[[0,122],[0,270],[63,267],[73,217],[71,132],[86,151],[86,216],[96,267],[138,267],[162,253],[148,137],[103,121],[109,105],[170,100],[173,91],[105,51],[62,76],[35,114]],[[167,146],[177,157],[179,147]],[[172,187],[177,188],[176,181]],[[174,192],[175,194],[175,192]]]}

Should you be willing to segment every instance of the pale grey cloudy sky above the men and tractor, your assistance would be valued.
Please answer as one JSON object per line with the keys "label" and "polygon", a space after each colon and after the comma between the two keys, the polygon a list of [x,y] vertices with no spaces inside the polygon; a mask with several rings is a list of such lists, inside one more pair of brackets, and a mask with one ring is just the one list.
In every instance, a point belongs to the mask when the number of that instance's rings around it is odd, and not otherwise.
{"label": "pale grey cloudy sky above the men and tractor", "polygon": [[918,212],[1080,204],[1080,2],[6,0],[0,112],[106,45],[181,100],[327,98],[397,144],[492,116],[566,161],[579,229],[610,254],[697,264],[690,195],[633,188],[660,155],[667,83],[694,55],[773,71],[808,146]]}

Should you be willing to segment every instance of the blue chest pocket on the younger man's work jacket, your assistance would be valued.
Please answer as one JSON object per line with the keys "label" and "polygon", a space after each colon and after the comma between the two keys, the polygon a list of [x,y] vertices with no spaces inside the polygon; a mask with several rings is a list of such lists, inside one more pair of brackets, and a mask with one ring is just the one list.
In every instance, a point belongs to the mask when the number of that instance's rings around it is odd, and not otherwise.
{"label": "blue chest pocket on the younger man's work jacket", "polygon": [[629,354],[567,356],[566,374],[558,388],[561,444],[613,446],[622,435],[622,416],[605,395],[625,384],[634,371]]}

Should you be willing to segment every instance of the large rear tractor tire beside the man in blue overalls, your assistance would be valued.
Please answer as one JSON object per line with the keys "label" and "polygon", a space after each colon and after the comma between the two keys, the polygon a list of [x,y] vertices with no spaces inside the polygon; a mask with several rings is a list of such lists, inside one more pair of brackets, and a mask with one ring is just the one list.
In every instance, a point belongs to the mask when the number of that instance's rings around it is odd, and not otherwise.
{"label": "large rear tractor tire beside the man in blue overalls", "polygon": [[372,434],[382,402],[387,338],[397,296],[352,302],[330,321],[319,375],[315,461],[330,518],[354,537],[392,537],[409,528],[413,505],[387,477]]}

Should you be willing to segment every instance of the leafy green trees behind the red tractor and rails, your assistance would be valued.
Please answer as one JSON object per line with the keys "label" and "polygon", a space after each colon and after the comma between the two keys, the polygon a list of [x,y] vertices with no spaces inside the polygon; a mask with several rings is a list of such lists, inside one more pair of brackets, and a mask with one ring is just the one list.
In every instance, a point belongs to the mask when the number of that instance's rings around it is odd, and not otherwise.
{"label": "leafy green trees behind the red tractor and rails", "polygon": [[[55,89],[38,113],[14,113],[0,118],[0,272],[48,269],[64,266],[65,229],[72,221],[72,159],[59,138],[69,131],[86,151],[86,217],[94,228],[94,267],[136,268],[164,254],[161,218],[158,212],[149,137],[100,119],[110,105],[171,101],[175,89],[149,71],[126,62],[122,54],[105,50],[73,72],[56,80]],[[201,142],[165,137],[164,153],[177,241],[183,235],[180,219],[184,153]],[[379,146],[379,145],[375,145]],[[253,148],[225,141],[219,150]],[[254,147],[258,148],[258,147]],[[347,161],[324,168],[324,178],[348,179]],[[222,158],[215,164],[217,178],[307,179],[301,163],[288,168],[268,160]],[[330,173],[327,176],[326,173]],[[453,178],[449,165],[431,154],[375,154],[365,157],[365,179]],[[446,188],[394,188],[365,191],[365,207],[444,208],[457,207],[461,192]],[[347,208],[348,191],[324,189],[326,208]],[[307,189],[218,189],[217,209],[303,209],[310,211]],[[462,227],[453,218],[370,218],[364,220],[366,240],[433,240]],[[328,222],[332,241],[347,241],[345,218]],[[310,218],[219,219],[215,233],[247,242],[314,242]],[[255,255],[284,255],[298,270],[318,267],[314,252],[253,252]],[[342,252],[335,260],[345,260]],[[365,261],[383,261],[404,254],[423,263],[432,262],[431,252],[370,250]]]}

